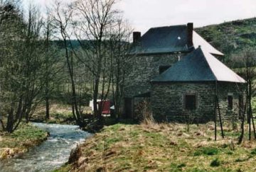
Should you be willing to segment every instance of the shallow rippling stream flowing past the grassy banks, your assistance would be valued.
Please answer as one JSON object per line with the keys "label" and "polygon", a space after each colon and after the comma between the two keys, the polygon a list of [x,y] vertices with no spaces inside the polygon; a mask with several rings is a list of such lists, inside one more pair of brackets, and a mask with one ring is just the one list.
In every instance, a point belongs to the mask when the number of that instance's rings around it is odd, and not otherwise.
{"label": "shallow rippling stream flowing past the grassy banks", "polygon": [[0,161],[0,171],[52,171],[65,164],[70,151],[90,136],[75,125],[33,123],[50,132],[50,137],[38,147],[31,148],[21,157]]}

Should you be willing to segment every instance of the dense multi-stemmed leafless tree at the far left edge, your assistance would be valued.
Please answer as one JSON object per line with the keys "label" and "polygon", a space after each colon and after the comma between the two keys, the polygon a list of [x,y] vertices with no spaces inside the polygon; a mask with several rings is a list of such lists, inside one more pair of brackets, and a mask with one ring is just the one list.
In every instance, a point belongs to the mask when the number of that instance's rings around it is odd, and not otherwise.
{"label": "dense multi-stemmed leafless tree at the far left edge", "polygon": [[1,125],[13,132],[23,117],[28,122],[41,101],[41,18],[30,6],[26,21],[16,1],[1,1],[0,11],[1,113],[6,117]]}

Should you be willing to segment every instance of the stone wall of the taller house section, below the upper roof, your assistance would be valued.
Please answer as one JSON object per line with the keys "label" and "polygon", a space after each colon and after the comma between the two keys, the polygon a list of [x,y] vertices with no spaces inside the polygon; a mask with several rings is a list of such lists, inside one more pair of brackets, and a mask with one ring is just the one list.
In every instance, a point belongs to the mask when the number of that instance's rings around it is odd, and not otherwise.
{"label": "stone wall of the taller house section, below the upper roof", "polygon": [[149,92],[151,89],[150,81],[159,75],[160,66],[173,65],[178,62],[178,56],[174,55],[137,55],[130,57],[129,70],[124,87],[124,97],[132,98],[142,93]]}

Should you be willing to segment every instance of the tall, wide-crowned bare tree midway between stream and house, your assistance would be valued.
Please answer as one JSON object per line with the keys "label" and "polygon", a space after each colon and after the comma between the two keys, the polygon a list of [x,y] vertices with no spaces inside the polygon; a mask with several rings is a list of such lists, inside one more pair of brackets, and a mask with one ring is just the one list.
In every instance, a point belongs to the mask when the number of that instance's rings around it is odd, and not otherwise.
{"label": "tall, wide-crowned bare tree midway between stream and house", "polygon": [[[95,116],[102,120],[102,103],[97,108],[97,98],[102,79],[101,101],[110,91],[110,77],[107,79],[109,51],[107,41],[110,40],[109,31],[116,22],[118,11],[114,10],[116,0],[77,0],[75,1],[75,35],[82,47],[84,57],[80,57],[93,76],[93,107]],[[85,41],[86,40],[86,41]],[[107,86],[106,86],[107,85]]]}

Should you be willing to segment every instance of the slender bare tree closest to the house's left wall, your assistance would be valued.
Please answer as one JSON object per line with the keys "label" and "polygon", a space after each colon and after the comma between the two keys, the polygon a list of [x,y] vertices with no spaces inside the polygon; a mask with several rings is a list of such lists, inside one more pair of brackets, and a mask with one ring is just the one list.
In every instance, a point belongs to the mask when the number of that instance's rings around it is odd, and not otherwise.
{"label": "slender bare tree closest to the house's left wall", "polygon": [[124,94],[124,80],[129,71],[129,38],[132,29],[122,17],[111,31],[110,38],[110,74],[112,78],[112,99],[114,101],[114,117],[119,120],[121,116],[121,103]]}

